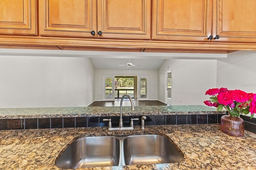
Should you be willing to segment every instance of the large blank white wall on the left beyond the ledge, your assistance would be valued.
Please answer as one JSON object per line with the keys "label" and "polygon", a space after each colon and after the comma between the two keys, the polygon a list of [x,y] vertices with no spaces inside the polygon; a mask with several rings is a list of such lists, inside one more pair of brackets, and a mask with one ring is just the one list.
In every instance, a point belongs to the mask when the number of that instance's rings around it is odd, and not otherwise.
{"label": "large blank white wall on the left beyond the ledge", "polygon": [[93,83],[88,58],[0,56],[0,108],[87,106]]}

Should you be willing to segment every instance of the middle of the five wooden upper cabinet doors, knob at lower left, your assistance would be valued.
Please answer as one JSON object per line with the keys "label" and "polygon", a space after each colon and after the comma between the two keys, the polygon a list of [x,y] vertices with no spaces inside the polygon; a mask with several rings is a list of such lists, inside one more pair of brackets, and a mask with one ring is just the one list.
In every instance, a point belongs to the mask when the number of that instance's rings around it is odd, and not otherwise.
{"label": "middle of the five wooden upper cabinet doors, knob at lower left", "polygon": [[151,0],[98,0],[102,38],[150,39]]}

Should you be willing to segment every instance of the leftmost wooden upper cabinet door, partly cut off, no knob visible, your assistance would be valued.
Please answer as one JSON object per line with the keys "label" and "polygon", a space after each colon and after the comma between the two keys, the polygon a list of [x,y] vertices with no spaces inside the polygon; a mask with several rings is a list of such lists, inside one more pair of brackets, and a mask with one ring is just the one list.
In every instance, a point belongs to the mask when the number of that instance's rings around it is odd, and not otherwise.
{"label": "leftmost wooden upper cabinet door, partly cut off, no knob visible", "polygon": [[0,34],[36,35],[36,0],[0,0]]}

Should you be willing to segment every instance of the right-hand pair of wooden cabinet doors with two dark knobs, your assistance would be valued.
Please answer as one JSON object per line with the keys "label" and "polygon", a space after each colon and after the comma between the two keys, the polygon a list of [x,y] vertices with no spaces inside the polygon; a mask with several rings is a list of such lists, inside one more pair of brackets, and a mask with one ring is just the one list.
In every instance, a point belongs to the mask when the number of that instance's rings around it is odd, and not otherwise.
{"label": "right-hand pair of wooden cabinet doors with two dark knobs", "polygon": [[255,9],[255,0],[153,0],[152,39],[256,42]]}

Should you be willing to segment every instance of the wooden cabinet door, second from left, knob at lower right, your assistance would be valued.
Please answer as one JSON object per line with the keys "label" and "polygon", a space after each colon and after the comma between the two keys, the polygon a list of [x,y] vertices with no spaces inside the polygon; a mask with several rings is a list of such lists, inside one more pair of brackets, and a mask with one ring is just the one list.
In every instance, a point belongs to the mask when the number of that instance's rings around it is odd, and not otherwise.
{"label": "wooden cabinet door, second from left, knob at lower right", "polygon": [[96,0],[39,0],[39,34],[96,37]]}

